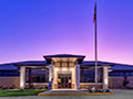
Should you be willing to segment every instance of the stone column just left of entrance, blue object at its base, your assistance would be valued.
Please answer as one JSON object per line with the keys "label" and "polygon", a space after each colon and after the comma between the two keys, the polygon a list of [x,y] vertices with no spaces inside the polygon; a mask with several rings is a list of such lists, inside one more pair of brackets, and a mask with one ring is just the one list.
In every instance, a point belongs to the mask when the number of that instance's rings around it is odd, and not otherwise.
{"label": "stone column just left of entrance, blue object at its base", "polygon": [[49,89],[52,89],[53,87],[53,65],[49,65]]}

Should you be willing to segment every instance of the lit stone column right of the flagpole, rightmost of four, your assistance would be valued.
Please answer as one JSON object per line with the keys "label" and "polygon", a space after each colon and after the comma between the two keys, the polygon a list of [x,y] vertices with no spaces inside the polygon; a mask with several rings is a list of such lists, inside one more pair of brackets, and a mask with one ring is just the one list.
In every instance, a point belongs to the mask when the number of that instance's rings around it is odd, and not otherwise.
{"label": "lit stone column right of the flagpole, rightmost of four", "polygon": [[109,84],[109,69],[108,67],[103,67],[103,89],[108,89]]}

